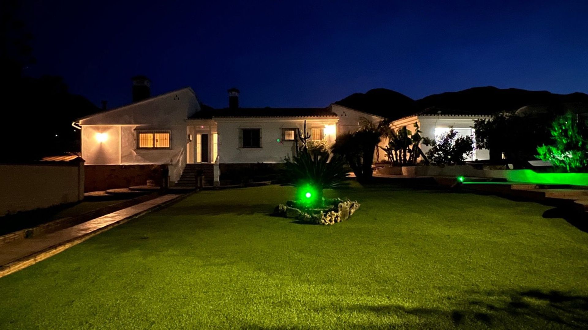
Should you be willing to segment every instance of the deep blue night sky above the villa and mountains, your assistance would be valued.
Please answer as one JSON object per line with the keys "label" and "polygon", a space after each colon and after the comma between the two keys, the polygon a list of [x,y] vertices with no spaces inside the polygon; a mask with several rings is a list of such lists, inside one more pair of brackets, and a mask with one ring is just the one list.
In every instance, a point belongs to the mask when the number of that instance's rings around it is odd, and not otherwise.
{"label": "deep blue night sky above the villa and mountains", "polygon": [[[59,2],[59,4],[55,4]],[[38,63],[109,107],[143,74],[202,102],[326,106],[375,87],[413,99],[474,86],[588,92],[588,1],[36,1]]]}

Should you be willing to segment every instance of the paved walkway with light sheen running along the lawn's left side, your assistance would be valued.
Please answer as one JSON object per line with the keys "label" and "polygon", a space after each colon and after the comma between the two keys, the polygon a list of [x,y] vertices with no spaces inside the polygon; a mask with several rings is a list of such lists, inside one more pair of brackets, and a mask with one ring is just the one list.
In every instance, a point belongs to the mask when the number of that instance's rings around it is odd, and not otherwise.
{"label": "paved walkway with light sheen running along the lawn's left side", "polygon": [[168,194],[55,233],[0,245],[0,277],[35,264],[182,195]]}

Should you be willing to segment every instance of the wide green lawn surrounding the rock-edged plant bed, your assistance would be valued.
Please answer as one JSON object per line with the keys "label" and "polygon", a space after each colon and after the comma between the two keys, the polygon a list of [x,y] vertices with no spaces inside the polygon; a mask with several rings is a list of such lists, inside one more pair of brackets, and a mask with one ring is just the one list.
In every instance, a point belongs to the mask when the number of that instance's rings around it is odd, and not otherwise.
{"label": "wide green lawn surrounding the rock-edged plant bed", "polygon": [[0,329],[588,326],[588,234],[551,207],[358,187],[344,223],[293,193],[204,191],[0,278]]}

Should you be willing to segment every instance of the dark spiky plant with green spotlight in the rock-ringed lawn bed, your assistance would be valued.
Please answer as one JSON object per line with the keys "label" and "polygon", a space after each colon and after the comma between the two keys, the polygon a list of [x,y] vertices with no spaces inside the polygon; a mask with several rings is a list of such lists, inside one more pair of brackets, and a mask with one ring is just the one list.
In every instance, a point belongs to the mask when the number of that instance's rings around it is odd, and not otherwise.
{"label": "dark spiky plant with green spotlight in the rock-ringed lawn bed", "polygon": [[346,186],[345,161],[339,156],[312,156],[306,149],[287,158],[282,184],[298,188],[297,201],[309,207],[322,205],[323,189]]}

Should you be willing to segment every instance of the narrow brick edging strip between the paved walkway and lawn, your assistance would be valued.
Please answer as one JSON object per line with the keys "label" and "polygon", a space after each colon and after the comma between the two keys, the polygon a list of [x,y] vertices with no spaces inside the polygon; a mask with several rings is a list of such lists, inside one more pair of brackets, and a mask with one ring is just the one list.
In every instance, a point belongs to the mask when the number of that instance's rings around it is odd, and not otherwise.
{"label": "narrow brick edging strip between the paved walkway and lawn", "polygon": [[158,204],[156,206],[148,208],[145,211],[141,211],[137,214],[130,215],[129,217],[122,218],[121,220],[116,221],[115,223],[105,225],[104,227],[98,228],[90,233],[71,238],[71,239],[66,240],[62,243],[52,245],[51,247],[45,248],[44,250],[35,252],[33,254],[29,254],[26,257],[22,257],[22,258],[19,258],[18,260],[9,262],[8,264],[0,267],[0,278],[4,277],[6,275],[12,274],[13,272],[22,270],[26,267],[29,267],[30,265],[34,265],[39,261],[45,260],[49,257],[52,257],[53,255],[56,255],[59,252],[65,251],[68,248],[70,248],[74,245],[77,245],[79,243],[82,243],[83,241],[88,240],[89,238],[91,238],[95,235],[98,235],[100,233],[103,233],[104,231],[107,231],[113,227],[116,227],[117,225],[121,225],[123,223],[126,223],[127,221],[132,220],[133,218],[141,217],[141,215],[145,215],[145,214],[150,213],[152,211],[160,210],[161,208],[169,206],[173,203],[177,203],[178,201],[181,201],[184,198],[191,196],[193,193],[180,195],[176,198],[173,198],[172,200],[168,200],[168,201],[165,201],[161,204]]}

